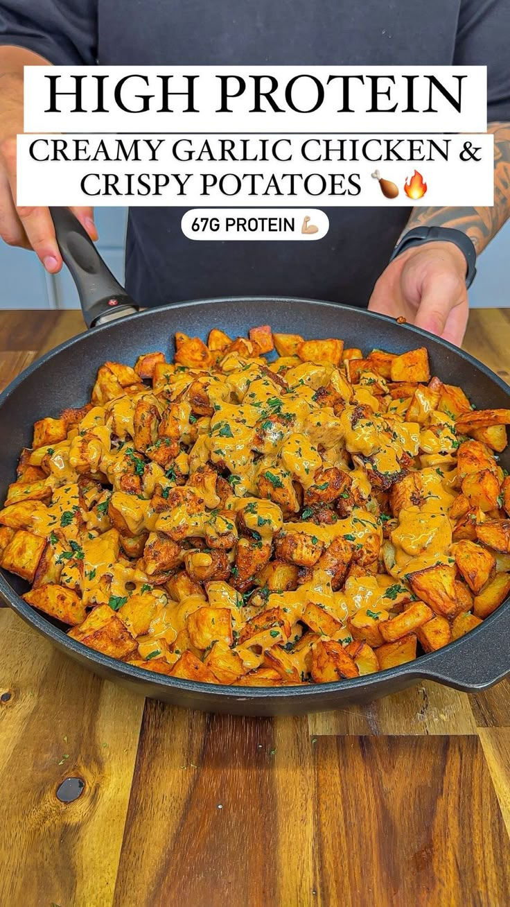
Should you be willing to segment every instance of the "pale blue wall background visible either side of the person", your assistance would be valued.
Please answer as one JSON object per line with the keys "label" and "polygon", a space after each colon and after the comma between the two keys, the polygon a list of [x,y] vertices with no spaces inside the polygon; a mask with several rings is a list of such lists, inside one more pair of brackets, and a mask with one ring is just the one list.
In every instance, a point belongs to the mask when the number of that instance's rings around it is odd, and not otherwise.
{"label": "pale blue wall background visible either side of the person", "polygon": [[[127,210],[98,208],[95,216],[101,255],[122,282]],[[510,307],[509,264],[510,223],[507,223],[478,259],[478,276],[469,292],[472,307]],[[0,309],[79,307],[67,268],[52,277],[45,273],[33,253],[11,249],[1,240],[0,281]]]}

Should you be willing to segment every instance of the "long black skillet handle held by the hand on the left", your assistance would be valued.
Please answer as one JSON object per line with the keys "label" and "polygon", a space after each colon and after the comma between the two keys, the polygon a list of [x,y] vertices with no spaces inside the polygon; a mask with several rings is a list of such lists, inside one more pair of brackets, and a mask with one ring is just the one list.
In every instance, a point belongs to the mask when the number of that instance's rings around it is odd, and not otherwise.
{"label": "long black skillet handle held by the hand on the left", "polygon": [[140,307],[113,277],[72,211],[52,207],[50,213],[63,260],[78,289],[87,327],[138,312]]}

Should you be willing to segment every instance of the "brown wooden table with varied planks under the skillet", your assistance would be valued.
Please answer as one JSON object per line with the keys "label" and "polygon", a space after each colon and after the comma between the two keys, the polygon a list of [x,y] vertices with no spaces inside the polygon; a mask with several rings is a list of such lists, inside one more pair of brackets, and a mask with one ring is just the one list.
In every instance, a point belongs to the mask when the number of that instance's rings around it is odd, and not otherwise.
{"label": "brown wooden table with varied planks under the skillet", "polygon": [[[80,330],[1,313],[0,379]],[[508,378],[510,311],[474,311],[466,347]],[[94,677],[6,609],[0,639],[2,907],[510,904],[508,680],[217,717]]]}

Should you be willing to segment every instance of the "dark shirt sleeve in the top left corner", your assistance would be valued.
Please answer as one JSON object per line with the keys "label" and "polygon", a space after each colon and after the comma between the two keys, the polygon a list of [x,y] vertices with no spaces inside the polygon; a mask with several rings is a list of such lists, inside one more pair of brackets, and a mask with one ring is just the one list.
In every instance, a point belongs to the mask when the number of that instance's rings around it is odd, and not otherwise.
{"label": "dark shirt sleeve in the top left corner", "polygon": [[0,44],[53,65],[96,63],[97,0],[0,0]]}

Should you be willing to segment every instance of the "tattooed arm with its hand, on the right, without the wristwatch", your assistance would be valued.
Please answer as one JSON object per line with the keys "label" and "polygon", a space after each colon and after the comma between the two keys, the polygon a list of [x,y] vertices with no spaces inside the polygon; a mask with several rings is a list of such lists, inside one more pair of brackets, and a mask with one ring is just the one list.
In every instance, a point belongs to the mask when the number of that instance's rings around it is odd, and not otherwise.
{"label": "tattooed arm with its hand, on the right, without the wristwatch", "polygon": [[[414,227],[452,227],[467,234],[479,254],[510,217],[510,123],[495,122],[494,205],[490,208],[414,208],[402,236]],[[466,258],[451,242],[429,242],[402,252],[370,297],[374,312],[398,317],[460,346],[469,312]]]}

